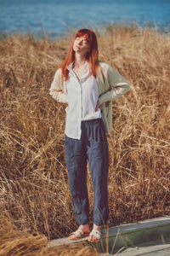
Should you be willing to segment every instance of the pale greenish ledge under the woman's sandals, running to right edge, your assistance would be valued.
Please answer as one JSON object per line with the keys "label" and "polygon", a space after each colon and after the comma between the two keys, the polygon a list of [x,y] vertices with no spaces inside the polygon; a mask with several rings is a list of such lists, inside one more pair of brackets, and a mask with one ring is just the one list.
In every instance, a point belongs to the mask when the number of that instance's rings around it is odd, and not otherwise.
{"label": "pale greenish ledge under the woman's sandals, running to right edge", "polygon": [[[135,246],[141,242],[154,241],[161,236],[170,237],[170,216],[151,218],[135,224],[122,224],[102,230],[104,235],[102,241],[94,243],[100,252],[116,252],[122,247]],[[68,246],[72,243],[89,243],[88,237],[79,240],[60,238],[48,242],[48,247]],[[92,243],[90,243],[92,244]]]}

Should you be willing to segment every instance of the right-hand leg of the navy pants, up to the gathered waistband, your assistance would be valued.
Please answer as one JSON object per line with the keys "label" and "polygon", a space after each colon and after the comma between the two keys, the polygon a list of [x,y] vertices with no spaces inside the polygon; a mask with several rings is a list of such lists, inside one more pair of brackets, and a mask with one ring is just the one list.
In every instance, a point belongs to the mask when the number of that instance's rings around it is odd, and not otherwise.
{"label": "right-hand leg of the navy pants, up to the gathered waistband", "polygon": [[109,170],[109,151],[103,120],[90,126],[88,162],[94,185],[94,224],[104,225],[109,218],[107,178]]}

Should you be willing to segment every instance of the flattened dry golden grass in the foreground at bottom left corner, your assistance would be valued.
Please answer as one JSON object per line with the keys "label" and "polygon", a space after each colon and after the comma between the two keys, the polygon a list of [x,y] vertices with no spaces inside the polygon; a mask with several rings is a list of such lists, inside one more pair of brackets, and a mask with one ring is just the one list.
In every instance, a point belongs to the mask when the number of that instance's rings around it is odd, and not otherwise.
{"label": "flattened dry golden grass in the foreground at bottom left corner", "polygon": [[4,216],[0,224],[0,256],[99,256],[94,247],[83,243],[49,248],[46,236],[16,230]]}

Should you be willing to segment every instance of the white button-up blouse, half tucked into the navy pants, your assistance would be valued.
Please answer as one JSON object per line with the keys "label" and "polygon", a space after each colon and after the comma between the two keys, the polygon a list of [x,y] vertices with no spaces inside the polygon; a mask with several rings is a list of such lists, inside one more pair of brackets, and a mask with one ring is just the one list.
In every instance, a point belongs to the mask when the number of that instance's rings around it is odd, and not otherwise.
{"label": "white button-up blouse, half tucked into the navy pants", "polygon": [[65,134],[67,137],[81,138],[82,120],[101,118],[101,111],[95,108],[99,99],[97,80],[93,75],[89,75],[88,62],[84,64],[82,78],[77,79],[77,75],[72,70],[73,63],[68,68],[69,79],[66,82],[68,96],[68,112],[66,114]]}

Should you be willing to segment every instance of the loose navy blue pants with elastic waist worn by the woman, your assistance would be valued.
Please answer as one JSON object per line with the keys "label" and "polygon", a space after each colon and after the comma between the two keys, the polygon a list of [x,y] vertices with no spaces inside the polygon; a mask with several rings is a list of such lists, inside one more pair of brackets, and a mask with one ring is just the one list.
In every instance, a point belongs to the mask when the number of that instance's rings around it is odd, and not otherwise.
{"label": "loose navy blue pants with elastic waist worn by the woman", "polygon": [[77,224],[89,223],[87,160],[94,185],[94,224],[106,224],[109,152],[103,119],[82,121],[80,140],[65,135],[65,160]]}

